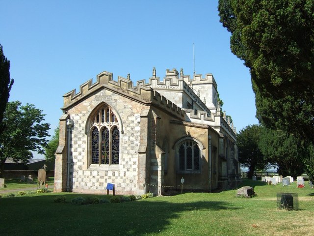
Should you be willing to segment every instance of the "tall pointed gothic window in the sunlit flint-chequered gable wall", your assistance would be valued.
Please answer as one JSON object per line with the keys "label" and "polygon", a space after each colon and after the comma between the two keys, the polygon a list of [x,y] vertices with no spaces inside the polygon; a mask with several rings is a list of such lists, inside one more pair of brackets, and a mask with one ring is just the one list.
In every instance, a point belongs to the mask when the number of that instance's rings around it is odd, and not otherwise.
{"label": "tall pointed gothic window in the sunlit flint-chequered gable wall", "polygon": [[119,164],[120,132],[116,115],[103,106],[91,119],[91,164]]}

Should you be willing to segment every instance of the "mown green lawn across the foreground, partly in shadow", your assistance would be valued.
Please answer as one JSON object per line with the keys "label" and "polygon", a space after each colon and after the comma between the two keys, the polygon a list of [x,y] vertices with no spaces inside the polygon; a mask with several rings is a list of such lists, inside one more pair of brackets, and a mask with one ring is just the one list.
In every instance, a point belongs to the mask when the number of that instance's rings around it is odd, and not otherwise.
{"label": "mown green lawn across the foreground, partly in shadow", "polygon": [[[183,193],[134,202],[76,206],[74,193],[0,198],[1,236],[310,236],[314,232],[314,190],[245,180],[257,197],[235,198],[236,190]],[[277,192],[299,195],[299,210],[276,207]],[[67,203],[53,203],[56,196]]]}

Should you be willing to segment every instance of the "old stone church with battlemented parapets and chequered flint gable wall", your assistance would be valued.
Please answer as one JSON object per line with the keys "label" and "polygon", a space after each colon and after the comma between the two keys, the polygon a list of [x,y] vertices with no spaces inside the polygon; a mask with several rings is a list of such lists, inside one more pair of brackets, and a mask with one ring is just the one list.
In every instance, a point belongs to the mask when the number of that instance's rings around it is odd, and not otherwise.
{"label": "old stone church with battlemented parapets and chequered flint gable wall", "polygon": [[220,112],[211,74],[156,69],[148,83],[103,72],[63,95],[54,190],[162,195],[211,191],[239,177],[233,124]]}

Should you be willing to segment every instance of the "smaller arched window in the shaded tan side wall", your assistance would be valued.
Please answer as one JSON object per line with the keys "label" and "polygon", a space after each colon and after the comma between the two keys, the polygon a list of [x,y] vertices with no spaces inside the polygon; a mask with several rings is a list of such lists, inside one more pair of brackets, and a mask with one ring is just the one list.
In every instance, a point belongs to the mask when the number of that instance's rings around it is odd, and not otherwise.
{"label": "smaller arched window in the shaded tan side wall", "polygon": [[195,141],[188,139],[179,144],[178,154],[180,172],[200,171],[201,151]]}

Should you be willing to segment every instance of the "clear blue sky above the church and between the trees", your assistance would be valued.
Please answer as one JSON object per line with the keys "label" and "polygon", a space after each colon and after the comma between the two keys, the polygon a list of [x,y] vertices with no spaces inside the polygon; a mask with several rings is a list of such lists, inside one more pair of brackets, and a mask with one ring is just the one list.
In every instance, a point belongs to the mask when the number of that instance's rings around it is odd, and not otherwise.
{"label": "clear blue sky above the church and between the trees", "polygon": [[11,61],[10,101],[34,104],[50,133],[62,95],[109,71],[137,81],[156,67],[212,73],[223,110],[239,131],[255,118],[248,68],[230,51],[217,0],[0,0],[0,44]]}

